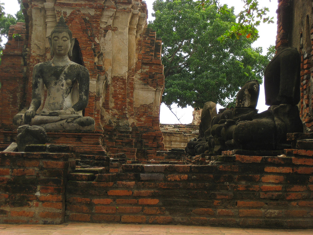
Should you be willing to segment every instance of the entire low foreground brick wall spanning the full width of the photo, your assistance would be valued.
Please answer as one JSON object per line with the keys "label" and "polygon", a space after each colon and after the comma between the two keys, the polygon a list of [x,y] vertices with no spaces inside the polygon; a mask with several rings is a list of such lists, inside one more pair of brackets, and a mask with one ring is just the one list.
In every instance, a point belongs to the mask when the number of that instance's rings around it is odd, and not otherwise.
{"label": "entire low foreground brick wall spanning the full width of the photo", "polygon": [[312,228],[313,151],[285,154],[68,174],[71,154],[1,153],[0,222],[55,224],[65,213],[72,222]]}

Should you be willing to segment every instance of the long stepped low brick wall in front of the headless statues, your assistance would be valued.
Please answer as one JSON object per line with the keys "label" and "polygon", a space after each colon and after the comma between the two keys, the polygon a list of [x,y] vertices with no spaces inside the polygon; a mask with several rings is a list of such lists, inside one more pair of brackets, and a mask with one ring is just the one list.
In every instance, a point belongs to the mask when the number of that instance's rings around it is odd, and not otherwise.
{"label": "long stepped low brick wall in front of the headless statues", "polygon": [[223,156],[211,165],[122,165],[68,181],[66,221],[312,228],[312,151]]}

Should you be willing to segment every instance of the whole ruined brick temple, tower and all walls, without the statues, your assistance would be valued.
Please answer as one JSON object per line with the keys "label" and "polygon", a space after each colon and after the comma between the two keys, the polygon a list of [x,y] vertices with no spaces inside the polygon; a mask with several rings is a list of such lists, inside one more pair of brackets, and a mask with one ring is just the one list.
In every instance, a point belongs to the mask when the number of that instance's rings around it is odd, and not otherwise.
{"label": "whole ruined brick temple, tower and all walls, without the statues", "polygon": [[[228,149],[186,159],[164,148],[161,40],[146,27],[144,1],[23,0],[26,23],[10,27],[0,66],[1,150],[15,141],[12,119],[30,105],[33,67],[51,59],[47,38],[62,13],[72,60],[90,73],[83,112],[95,129],[47,131],[47,144],[0,152],[0,222],[313,228],[312,4],[278,0],[277,10],[276,49],[300,53],[305,133],[287,134],[280,155]],[[183,129],[162,126],[171,128]]]}

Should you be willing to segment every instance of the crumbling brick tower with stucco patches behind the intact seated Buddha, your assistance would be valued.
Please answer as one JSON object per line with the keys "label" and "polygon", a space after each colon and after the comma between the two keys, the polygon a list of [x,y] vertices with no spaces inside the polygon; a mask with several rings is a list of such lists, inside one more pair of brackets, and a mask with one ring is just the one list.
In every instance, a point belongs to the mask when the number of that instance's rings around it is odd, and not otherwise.
{"label": "crumbling brick tower with stucco patches behind the intact seated Buddha", "polygon": [[[159,128],[164,89],[161,40],[146,28],[146,3],[23,0],[23,5],[26,24],[11,26],[0,67],[1,147],[13,141],[13,116],[30,104],[33,66],[51,59],[48,37],[63,12],[76,39],[72,60],[90,72],[90,98],[84,112],[96,126],[79,138],[89,135],[100,139],[98,144],[103,140],[106,151],[135,159],[152,158],[164,149]],[[13,34],[19,36],[13,39]],[[63,133],[62,141],[66,136],[77,140],[78,134]],[[58,134],[51,135],[56,139]]]}

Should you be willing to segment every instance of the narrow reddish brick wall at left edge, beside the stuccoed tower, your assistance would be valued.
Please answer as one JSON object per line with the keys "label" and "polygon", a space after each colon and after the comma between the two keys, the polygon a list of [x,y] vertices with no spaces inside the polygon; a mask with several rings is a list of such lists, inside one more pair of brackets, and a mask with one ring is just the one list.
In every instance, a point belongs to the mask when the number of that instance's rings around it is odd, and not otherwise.
{"label": "narrow reddish brick wall at left edge, beside the stuccoed tower", "polygon": [[[13,34],[20,35],[13,39]],[[4,142],[4,129],[12,129],[12,119],[25,104],[24,91],[28,86],[26,77],[27,33],[24,23],[17,23],[9,29],[8,43],[5,45],[0,65],[0,146]],[[7,146],[5,143],[4,146]],[[2,146],[1,146],[2,147]]]}

